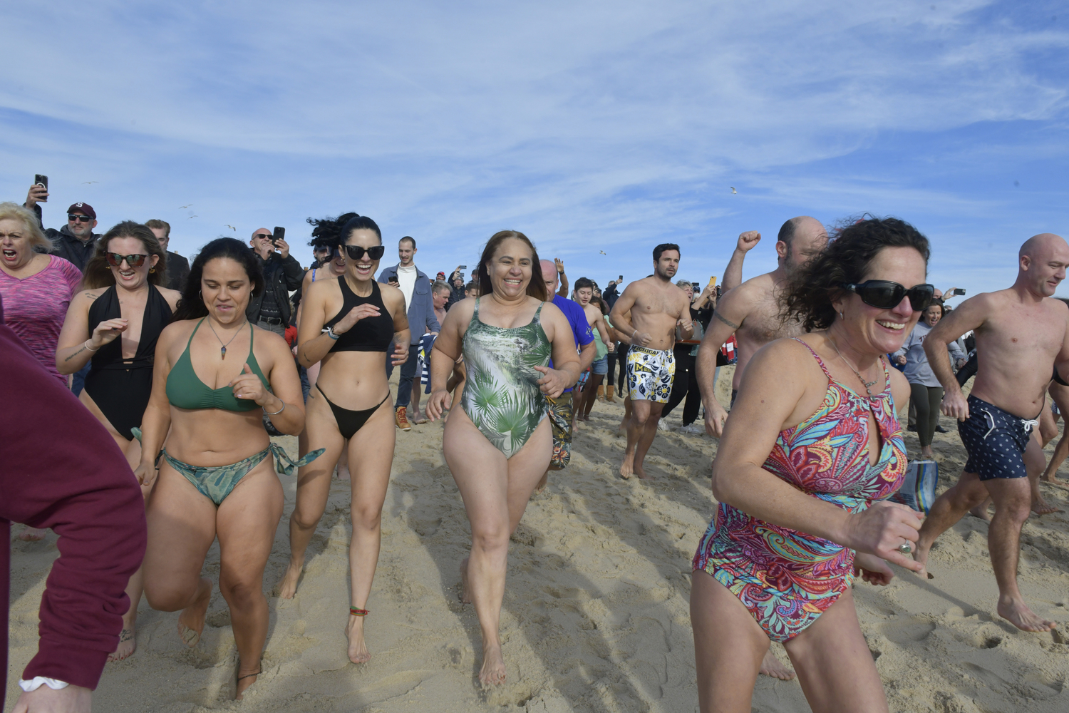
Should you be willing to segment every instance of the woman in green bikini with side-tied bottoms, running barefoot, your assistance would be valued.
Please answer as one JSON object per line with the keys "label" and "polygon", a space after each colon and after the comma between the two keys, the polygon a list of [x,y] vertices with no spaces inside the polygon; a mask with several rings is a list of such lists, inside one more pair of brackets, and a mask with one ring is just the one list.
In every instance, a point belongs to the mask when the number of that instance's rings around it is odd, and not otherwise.
{"label": "woman in green bikini with side-tied bottoms, running barefoot", "polygon": [[219,589],[239,656],[238,699],[260,672],[267,637],[263,572],[282,516],[275,467],[295,465],[270,443],[261,414],[282,433],[305,428],[290,347],[245,316],[250,295],[263,288],[260,264],[245,244],[221,237],[201,250],[174,321],[156,343],[135,470],[142,484],[155,481],[144,593],[154,609],[182,610],[179,634],[190,647],[200,640],[212,598],[201,568],[219,538]]}

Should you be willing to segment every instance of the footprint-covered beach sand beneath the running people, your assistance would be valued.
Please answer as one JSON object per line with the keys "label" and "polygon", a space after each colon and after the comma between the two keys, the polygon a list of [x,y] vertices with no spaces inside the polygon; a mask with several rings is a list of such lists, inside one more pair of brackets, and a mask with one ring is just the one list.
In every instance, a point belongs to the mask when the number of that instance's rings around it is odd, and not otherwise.
{"label": "footprint-covered beach sand beneath the running people", "polygon": [[[396,378],[396,376],[394,376]],[[722,389],[730,379],[723,370]],[[335,480],[296,599],[270,598],[263,675],[231,700],[236,650],[226,603],[214,592],[201,644],[187,649],[177,614],[139,608],[137,652],[108,664],[94,710],[200,711],[695,711],[688,616],[691,557],[713,512],[707,436],[661,432],[649,481],[616,477],[624,439],[620,403],[598,403],[575,436],[572,463],[536,495],[512,538],[501,617],[508,683],[476,684],[479,626],[458,601],[468,548],[461,498],[441,456],[441,427],[398,434],[383,512],[383,547],[368,608],[370,663],[346,660],[348,481]],[[679,425],[677,412],[669,424]],[[948,419],[944,424],[950,427]],[[279,439],[291,451],[295,438]],[[909,434],[911,454],[919,445]],[[936,434],[941,490],[957,479],[964,450]],[[1053,450],[1048,447],[1048,454]],[[1063,477],[1069,475],[1063,470]],[[285,523],[295,478],[281,476],[285,513],[265,589],[289,557]],[[1063,511],[1067,494],[1043,485]],[[37,607],[56,536],[14,539],[7,710],[36,650]],[[892,711],[1069,710],[1069,646],[1017,631],[995,615],[987,525],[966,517],[932,551],[935,578],[899,571],[893,584],[855,589],[858,618]],[[1021,587],[1033,608],[1069,632],[1069,516],[1032,517],[1022,538]],[[219,549],[205,563],[218,576]],[[786,660],[781,647],[778,655]],[[755,711],[809,710],[796,682],[761,678]]]}

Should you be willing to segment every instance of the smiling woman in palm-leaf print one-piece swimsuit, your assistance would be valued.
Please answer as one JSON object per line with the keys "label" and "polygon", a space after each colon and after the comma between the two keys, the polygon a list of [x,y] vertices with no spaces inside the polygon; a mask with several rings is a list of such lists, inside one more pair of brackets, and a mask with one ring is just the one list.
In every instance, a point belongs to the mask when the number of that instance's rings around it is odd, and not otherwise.
{"label": "smiling woman in palm-leaf print one-piece swimsuit", "polygon": [[462,352],[467,369],[461,408],[449,412],[441,446],[471,524],[461,599],[475,603],[482,629],[483,685],[505,682],[498,629],[509,536],[549,465],[545,397],[559,397],[579,377],[572,327],[546,301],[553,296],[541,275],[531,279],[538,260],[523,233],[491,237],[479,262],[481,296],[449,310],[431,359],[432,421],[449,405],[446,383]]}

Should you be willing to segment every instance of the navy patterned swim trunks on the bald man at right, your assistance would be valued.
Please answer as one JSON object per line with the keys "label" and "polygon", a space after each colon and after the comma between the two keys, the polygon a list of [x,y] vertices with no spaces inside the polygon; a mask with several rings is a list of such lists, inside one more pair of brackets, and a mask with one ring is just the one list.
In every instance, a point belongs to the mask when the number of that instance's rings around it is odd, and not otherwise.
{"label": "navy patterned swim trunks on the bald man at right", "polygon": [[958,435],[969,452],[965,472],[975,472],[980,480],[1026,478],[1024,449],[1037,424],[970,396],[969,418],[958,422]]}

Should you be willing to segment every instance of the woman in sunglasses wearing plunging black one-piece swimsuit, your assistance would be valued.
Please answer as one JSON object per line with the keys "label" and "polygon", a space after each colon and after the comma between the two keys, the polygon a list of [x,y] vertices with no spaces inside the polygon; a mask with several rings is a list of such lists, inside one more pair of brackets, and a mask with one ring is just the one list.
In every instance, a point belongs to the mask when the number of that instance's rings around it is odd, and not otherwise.
{"label": "woman in sunglasses wearing plunging black one-piece swimsuit", "polygon": [[[149,405],[156,338],[182,296],[159,286],[166,259],[159,241],[140,223],[121,222],[105,233],[67,308],[56,351],[61,374],[73,374],[92,360],[78,399],[115,439],[131,469],[141,461],[141,444],[130,429],[141,425]],[[134,653],[141,589],[138,570],[126,587],[130,608],[109,661]]]}

